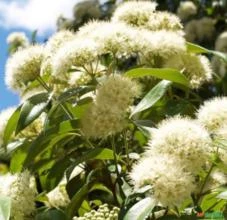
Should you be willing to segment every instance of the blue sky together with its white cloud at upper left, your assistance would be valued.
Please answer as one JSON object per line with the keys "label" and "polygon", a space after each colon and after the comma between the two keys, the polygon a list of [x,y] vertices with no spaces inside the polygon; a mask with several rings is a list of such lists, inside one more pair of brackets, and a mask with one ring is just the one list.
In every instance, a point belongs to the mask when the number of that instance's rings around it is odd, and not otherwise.
{"label": "blue sky together with its white cloud at upper left", "polygon": [[30,38],[37,30],[37,40],[43,42],[56,31],[59,15],[72,17],[77,2],[79,0],[0,0],[0,111],[18,104],[18,96],[7,89],[4,82],[8,34],[23,31]]}

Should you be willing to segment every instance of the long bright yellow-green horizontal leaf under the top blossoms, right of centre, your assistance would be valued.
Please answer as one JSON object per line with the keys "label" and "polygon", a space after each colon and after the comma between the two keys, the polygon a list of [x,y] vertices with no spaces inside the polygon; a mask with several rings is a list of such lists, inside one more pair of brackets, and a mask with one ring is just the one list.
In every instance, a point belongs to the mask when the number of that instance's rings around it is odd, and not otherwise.
{"label": "long bright yellow-green horizontal leaf under the top blossoms, right of centre", "polygon": [[169,80],[189,87],[187,78],[178,70],[170,68],[136,68],[126,72],[125,76],[132,78],[154,76],[159,79]]}

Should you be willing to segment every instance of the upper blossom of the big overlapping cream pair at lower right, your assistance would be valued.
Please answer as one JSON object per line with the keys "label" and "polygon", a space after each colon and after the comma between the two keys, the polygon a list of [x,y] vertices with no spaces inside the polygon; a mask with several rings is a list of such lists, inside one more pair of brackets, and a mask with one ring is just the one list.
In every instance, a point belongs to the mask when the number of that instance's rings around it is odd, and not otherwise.
{"label": "upper blossom of the big overlapping cream pair at lower right", "polygon": [[152,133],[146,155],[172,155],[183,160],[189,171],[198,172],[209,159],[211,144],[206,129],[194,120],[178,116],[164,120]]}

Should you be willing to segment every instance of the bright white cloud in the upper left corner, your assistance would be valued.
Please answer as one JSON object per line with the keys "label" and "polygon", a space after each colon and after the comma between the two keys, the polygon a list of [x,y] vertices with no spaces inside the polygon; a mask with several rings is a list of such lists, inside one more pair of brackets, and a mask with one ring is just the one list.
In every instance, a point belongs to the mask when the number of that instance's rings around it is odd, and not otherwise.
{"label": "bright white cloud in the upper left corner", "polygon": [[56,29],[59,15],[72,17],[79,0],[0,0],[0,26],[38,30],[39,34]]}

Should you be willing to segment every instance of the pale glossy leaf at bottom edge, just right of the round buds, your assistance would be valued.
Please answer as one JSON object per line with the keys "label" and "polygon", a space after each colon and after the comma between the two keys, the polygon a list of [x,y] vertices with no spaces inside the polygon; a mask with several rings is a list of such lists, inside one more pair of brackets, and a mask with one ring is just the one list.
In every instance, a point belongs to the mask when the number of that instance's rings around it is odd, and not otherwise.
{"label": "pale glossy leaf at bottom edge, just right of the round buds", "polygon": [[153,198],[148,197],[142,199],[129,209],[129,211],[124,216],[123,220],[146,219],[153,210],[153,208],[155,207],[155,205],[156,202]]}

